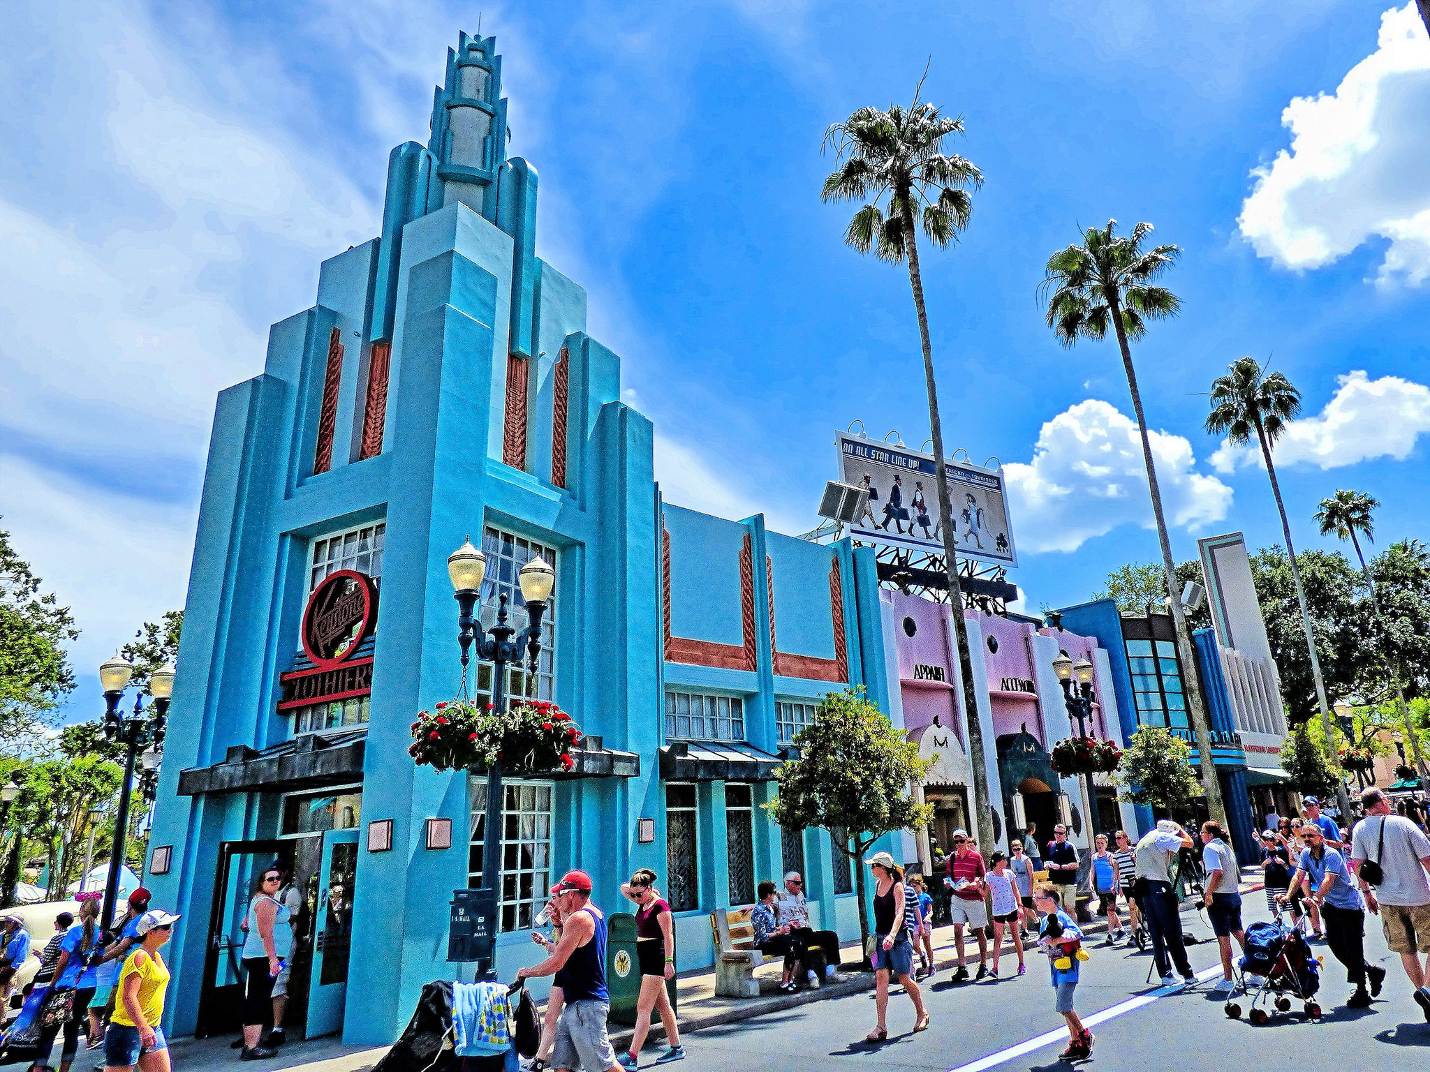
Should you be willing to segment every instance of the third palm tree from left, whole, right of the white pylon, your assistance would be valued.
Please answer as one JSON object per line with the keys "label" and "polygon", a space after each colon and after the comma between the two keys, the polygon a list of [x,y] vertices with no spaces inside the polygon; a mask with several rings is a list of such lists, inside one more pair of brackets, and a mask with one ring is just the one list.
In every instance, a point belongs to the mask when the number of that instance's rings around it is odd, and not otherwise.
{"label": "third palm tree from left, whole, right of the white pylon", "polygon": [[[1276,479],[1271,463],[1271,446],[1290,420],[1301,412],[1301,392],[1278,372],[1266,372],[1254,357],[1240,357],[1228,366],[1226,376],[1211,383],[1211,413],[1207,415],[1207,432],[1226,435],[1237,446],[1256,437],[1266,462],[1266,475],[1271,480],[1271,496],[1281,515],[1281,533],[1286,536],[1286,557],[1291,563],[1291,583],[1296,585],[1296,602],[1301,606],[1301,629],[1306,632],[1306,647],[1311,655],[1311,678],[1316,680],[1316,702],[1321,708],[1321,729],[1326,730],[1326,750],[1331,766],[1340,773],[1336,749],[1331,742],[1331,705],[1326,698],[1326,679],[1321,676],[1321,660],[1316,652],[1316,630],[1311,629],[1311,612],[1306,606],[1306,589],[1301,586],[1301,570],[1296,565],[1296,547],[1291,545],[1291,523],[1286,517],[1286,503],[1281,502],[1281,485]],[[1350,798],[1344,782],[1337,782],[1337,803],[1341,815],[1350,815]]]}

